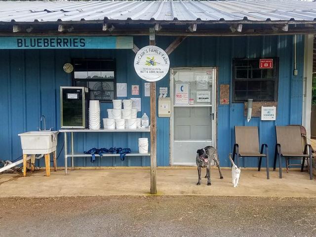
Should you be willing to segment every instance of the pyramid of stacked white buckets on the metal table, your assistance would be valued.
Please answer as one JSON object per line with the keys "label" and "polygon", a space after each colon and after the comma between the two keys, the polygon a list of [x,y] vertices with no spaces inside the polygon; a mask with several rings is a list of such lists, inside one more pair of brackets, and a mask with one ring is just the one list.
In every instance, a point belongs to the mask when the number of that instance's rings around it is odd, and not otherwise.
{"label": "pyramid of stacked white buckets on the metal table", "polygon": [[108,109],[107,112],[108,118],[103,118],[105,129],[137,129],[141,125],[141,118],[137,118],[137,109],[132,109],[132,100],[113,100],[113,109]]}

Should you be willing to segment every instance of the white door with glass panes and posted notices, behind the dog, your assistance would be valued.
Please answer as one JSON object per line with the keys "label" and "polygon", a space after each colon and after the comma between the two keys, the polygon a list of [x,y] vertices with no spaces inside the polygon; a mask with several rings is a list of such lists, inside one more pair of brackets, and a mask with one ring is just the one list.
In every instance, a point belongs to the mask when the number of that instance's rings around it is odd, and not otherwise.
{"label": "white door with glass panes and posted notices, behind the dog", "polygon": [[[170,77],[171,164],[195,165],[197,149],[215,146],[216,69],[172,69]],[[181,92],[188,84],[189,91]]]}

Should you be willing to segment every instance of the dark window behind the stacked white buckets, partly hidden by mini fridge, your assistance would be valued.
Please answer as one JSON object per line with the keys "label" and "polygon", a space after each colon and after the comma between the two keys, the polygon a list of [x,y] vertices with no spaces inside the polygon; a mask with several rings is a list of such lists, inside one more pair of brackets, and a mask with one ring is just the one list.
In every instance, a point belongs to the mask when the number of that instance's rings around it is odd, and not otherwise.
{"label": "dark window behind the stacked white buckets, partly hidden by mini fridge", "polygon": [[112,102],[116,99],[115,60],[75,59],[73,85],[90,90],[90,100]]}

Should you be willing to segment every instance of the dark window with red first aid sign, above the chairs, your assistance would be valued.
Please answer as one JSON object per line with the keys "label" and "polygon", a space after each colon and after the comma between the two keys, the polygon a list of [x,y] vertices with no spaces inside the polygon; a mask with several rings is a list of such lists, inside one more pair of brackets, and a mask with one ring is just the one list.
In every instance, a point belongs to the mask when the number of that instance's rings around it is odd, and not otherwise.
{"label": "dark window with red first aid sign, above the chairs", "polygon": [[277,101],[278,58],[273,68],[259,67],[260,58],[233,59],[233,103],[253,101]]}

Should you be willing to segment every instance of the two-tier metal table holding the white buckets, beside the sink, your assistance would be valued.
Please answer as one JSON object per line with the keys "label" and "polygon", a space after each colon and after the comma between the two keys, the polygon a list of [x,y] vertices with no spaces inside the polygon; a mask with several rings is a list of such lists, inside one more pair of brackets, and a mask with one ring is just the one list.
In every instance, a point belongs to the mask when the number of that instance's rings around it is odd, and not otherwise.
{"label": "two-tier metal table holding the white buckets, beside the sink", "polygon": [[[68,172],[68,161],[67,158],[71,157],[71,167],[74,169],[74,157],[91,157],[90,154],[74,154],[74,133],[76,132],[150,132],[150,126],[148,128],[139,128],[139,129],[100,129],[100,130],[92,130],[92,129],[60,129],[59,132],[64,133],[64,152],[65,152],[65,175]],[[71,154],[68,154],[67,150],[67,132],[71,134]],[[95,154],[96,157],[99,155]],[[118,157],[119,154],[104,154],[103,157]],[[129,153],[126,154],[127,157],[140,157],[146,156],[150,157],[150,153]]]}

